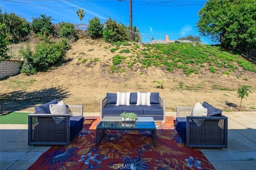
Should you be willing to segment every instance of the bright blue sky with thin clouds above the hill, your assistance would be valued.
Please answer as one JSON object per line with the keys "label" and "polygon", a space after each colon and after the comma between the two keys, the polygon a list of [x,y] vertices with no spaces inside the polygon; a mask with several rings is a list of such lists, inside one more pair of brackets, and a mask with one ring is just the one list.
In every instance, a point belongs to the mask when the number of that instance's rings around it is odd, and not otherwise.
{"label": "bright blue sky with thin clouds above the hill", "polygon": [[[198,12],[206,0],[132,0],[132,25],[138,27],[142,42],[169,40],[180,36],[200,36],[197,31]],[[82,24],[98,17],[104,23],[109,17],[130,25],[130,0],[0,0],[2,12],[13,12],[28,22],[40,14],[52,17],[53,23],[70,22],[79,24],[76,11],[81,8],[85,15]],[[211,40],[200,36],[201,41],[212,44]]]}

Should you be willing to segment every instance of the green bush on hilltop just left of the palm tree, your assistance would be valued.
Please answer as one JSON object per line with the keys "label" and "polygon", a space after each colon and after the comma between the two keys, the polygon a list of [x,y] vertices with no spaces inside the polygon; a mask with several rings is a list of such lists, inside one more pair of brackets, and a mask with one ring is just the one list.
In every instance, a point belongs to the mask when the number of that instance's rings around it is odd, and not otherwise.
{"label": "green bush on hilltop just left of the palm tree", "polygon": [[59,24],[60,26],[60,36],[63,38],[68,38],[69,40],[74,39],[77,40],[77,32],[75,30],[74,24],[62,22]]}

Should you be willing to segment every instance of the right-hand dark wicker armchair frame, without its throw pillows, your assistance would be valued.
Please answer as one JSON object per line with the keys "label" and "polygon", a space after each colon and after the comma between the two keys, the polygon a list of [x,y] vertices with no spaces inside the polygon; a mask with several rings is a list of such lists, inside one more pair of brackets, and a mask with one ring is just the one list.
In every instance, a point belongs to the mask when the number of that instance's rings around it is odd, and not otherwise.
{"label": "right-hand dark wicker armchair frame, without its throw pillows", "polygon": [[[177,118],[185,118],[185,142],[192,148],[227,148],[228,118],[226,116],[191,116],[193,107],[177,107]],[[180,119],[181,120],[181,119]],[[200,124],[198,124],[200,122]],[[178,124],[176,119],[176,130]],[[178,130],[177,130],[178,131]],[[182,132],[178,132],[179,134]]]}

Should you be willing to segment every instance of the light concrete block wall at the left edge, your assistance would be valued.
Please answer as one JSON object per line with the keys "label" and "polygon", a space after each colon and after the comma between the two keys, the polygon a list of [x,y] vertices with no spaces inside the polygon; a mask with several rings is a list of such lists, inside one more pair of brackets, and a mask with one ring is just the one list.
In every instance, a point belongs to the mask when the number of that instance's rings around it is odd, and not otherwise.
{"label": "light concrete block wall at the left edge", "polygon": [[3,60],[0,62],[0,79],[19,74],[22,62],[17,60]]}

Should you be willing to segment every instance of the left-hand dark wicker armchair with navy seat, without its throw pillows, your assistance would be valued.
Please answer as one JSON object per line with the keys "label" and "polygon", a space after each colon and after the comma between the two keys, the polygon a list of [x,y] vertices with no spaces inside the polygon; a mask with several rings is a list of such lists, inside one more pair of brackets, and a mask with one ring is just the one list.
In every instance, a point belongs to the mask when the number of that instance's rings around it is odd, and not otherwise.
{"label": "left-hand dark wicker armchair with navy seat, without its throw pillows", "polygon": [[83,128],[83,106],[67,106],[69,114],[28,115],[28,145],[69,145]]}

